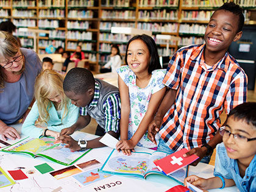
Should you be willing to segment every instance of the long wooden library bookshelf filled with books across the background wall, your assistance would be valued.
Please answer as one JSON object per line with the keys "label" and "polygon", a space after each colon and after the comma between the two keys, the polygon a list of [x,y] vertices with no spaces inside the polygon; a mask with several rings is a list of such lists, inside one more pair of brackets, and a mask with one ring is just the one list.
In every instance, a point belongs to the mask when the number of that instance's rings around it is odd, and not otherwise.
{"label": "long wooden library bookshelf filled with books across the background wall", "polygon": [[[208,20],[222,3],[222,0],[0,0],[0,21],[12,20],[18,28],[49,30],[49,35],[37,37],[38,53],[44,53],[52,41],[56,47],[63,46],[71,52],[81,45],[90,66],[98,71],[99,65],[107,62],[111,44],[119,44],[124,59],[127,41],[132,37],[111,34],[111,27],[151,30],[159,55],[171,56],[181,46],[204,43]],[[245,24],[255,25],[254,1],[242,3]],[[166,53],[167,42],[157,40],[157,34],[174,35],[180,37],[180,41],[169,41]],[[16,32],[15,35],[24,47],[34,47],[32,33]]]}

